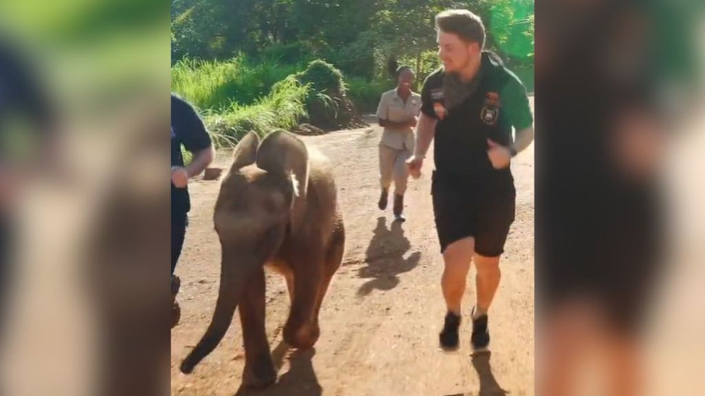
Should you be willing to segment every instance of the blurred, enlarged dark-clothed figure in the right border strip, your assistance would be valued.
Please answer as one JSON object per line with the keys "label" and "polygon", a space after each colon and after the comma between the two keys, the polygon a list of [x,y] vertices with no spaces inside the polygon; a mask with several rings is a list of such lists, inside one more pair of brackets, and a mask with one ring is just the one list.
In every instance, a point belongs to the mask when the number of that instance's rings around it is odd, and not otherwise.
{"label": "blurred, enlarged dark-clothed figure in the right border strip", "polygon": [[544,6],[536,68],[543,137],[536,146],[537,394],[574,394],[574,378],[590,361],[606,368],[596,378],[604,392],[641,395],[640,338],[666,269],[659,178],[675,109],[659,98],[663,76],[654,66],[673,61],[659,46],[671,51],[682,42],[652,29],[670,23],[669,7]]}

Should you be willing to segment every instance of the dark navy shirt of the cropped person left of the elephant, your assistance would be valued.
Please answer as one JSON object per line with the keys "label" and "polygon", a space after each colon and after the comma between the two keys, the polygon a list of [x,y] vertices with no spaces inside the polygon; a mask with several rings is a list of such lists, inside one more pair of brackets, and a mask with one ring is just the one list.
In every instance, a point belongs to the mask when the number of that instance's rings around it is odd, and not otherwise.
{"label": "dark navy shirt of the cropped person left of the elephant", "polygon": [[[210,147],[211,137],[195,109],[180,97],[171,94],[171,166],[184,166],[182,144],[193,153]],[[172,183],[171,210],[186,213],[190,208],[188,187],[176,188]]]}

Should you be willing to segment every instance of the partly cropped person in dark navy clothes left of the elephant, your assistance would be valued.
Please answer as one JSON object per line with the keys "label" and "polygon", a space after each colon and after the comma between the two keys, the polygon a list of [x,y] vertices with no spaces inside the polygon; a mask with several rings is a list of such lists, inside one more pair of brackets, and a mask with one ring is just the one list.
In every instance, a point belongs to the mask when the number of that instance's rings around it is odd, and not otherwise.
{"label": "partly cropped person in dark navy clothes left of the elephant", "polygon": [[[192,154],[185,165],[181,147]],[[180,309],[176,295],[180,279],[174,276],[188,226],[191,209],[188,179],[201,173],[214,158],[208,131],[196,110],[176,94],[171,94],[171,327],[178,324]]]}

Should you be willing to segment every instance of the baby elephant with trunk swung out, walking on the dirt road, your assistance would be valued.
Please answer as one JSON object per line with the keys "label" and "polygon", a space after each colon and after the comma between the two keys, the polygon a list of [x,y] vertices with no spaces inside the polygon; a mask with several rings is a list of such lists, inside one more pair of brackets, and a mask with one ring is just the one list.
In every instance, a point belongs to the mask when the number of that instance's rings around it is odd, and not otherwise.
{"label": "baby elephant with trunk swung out, walking on the dirt road", "polygon": [[214,223],[221,242],[221,279],[211,324],[181,364],[183,373],[215,349],[240,307],[245,343],[243,385],[276,381],[264,328],[264,266],[286,278],[291,311],[284,340],[296,348],[319,338],[321,302],[345,245],[331,169],[288,132],[262,143],[250,132],[235,147],[223,178]]}

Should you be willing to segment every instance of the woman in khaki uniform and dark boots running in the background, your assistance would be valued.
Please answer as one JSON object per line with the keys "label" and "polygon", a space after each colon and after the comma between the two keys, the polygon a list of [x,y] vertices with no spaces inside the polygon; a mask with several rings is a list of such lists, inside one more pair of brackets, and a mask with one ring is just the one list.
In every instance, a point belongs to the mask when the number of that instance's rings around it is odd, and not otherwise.
{"label": "woman in khaki uniform and dark boots running in the background", "polygon": [[379,209],[387,207],[389,186],[394,181],[394,217],[404,221],[404,193],[409,173],[406,160],[414,152],[414,131],[421,111],[421,95],[411,90],[414,72],[408,66],[396,70],[397,87],[384,92],[379,100],[377,118],[384,128],[379,142],[381,195]]}

